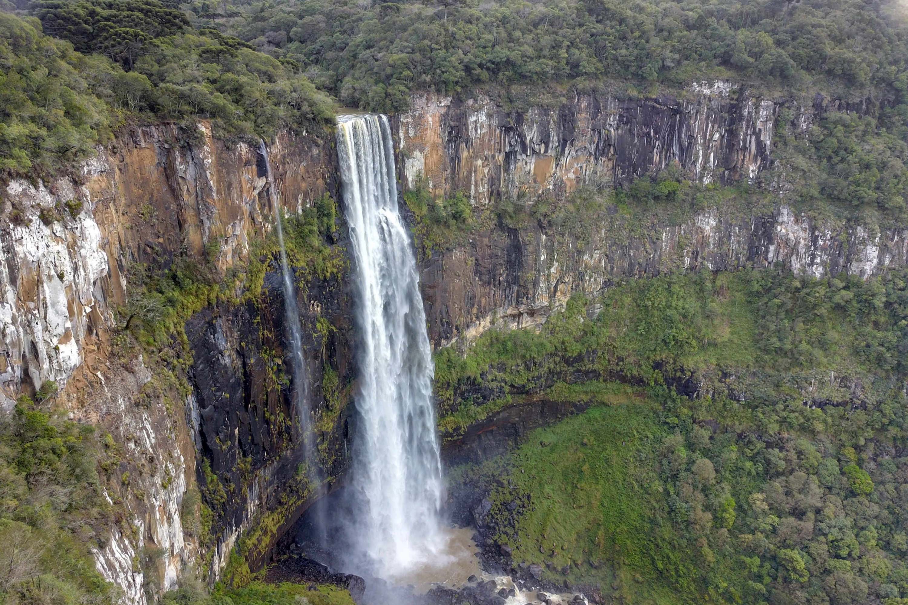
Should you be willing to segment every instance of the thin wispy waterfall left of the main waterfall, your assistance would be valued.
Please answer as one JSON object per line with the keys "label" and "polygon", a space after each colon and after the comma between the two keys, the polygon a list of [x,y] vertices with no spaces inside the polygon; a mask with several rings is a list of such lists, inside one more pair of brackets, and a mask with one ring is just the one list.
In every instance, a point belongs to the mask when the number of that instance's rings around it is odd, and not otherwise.
{"label": "thin wispy waterfall left of the main waterfall", "polygon": [[[281,204],[274,193],[273,183],[271,182],[271,161],[268,159],[268,148],[265,141],[259,143],[259,153],[265,162],[265,180],[268,183],[268,198],[274,207],[274,214],[277,217],[278,242],[281,244],[281,282],[284,295],[284,316],[287,324],[287,333],[290,337],[291,346],[291,372],[293,376],[293,405],[296,407],[297,418],[300,424],[300,434],[303,436],[303,443],[306,444],[307,454],[311,451],[309,447],[308,424],[306,418],[306,361],[302,355],[302,326],[300,324],[300,308],[296,304],[296,292],[293,289],[293,273],[290,263],[287,262],[287,248],[283,241],[283,217],[281,216]],[[309,456],[307,455],[307,460]]]}

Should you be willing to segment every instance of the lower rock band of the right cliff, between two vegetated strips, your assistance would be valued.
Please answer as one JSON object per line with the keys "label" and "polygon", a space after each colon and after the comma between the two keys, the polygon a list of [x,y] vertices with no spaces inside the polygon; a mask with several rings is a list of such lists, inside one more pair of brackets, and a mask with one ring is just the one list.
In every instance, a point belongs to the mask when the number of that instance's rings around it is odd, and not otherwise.
{"label": "lower rock band of the right cliff, between two vegetated strips", "polygon": [[865,279],[906,262],[908,229],[817,221],[784,203],[765,214],[703,210],[680,223],[654,217],[640,224],[613,209],[573,232],[531,224],[471,233],[427,259],[420,284],[429,335],[446,346],[493,326],[538,326],[574,292],[596,297],[620,278],[778,263],[797,275]]}

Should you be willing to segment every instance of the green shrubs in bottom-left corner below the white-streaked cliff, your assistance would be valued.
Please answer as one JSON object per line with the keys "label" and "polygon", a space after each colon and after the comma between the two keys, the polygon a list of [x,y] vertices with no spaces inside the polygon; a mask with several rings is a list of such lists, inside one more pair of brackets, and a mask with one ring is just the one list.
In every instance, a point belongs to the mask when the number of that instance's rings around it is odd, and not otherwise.
{"label": "green shrubs in bottom-left corner below the white-streaked cliff", "polygon": [[0,417],[0,601],[116,602],[89,551],[109,539],[114,506],[98,470],[113,470],[113,456],[93,427],[50,415],[25,395]]}

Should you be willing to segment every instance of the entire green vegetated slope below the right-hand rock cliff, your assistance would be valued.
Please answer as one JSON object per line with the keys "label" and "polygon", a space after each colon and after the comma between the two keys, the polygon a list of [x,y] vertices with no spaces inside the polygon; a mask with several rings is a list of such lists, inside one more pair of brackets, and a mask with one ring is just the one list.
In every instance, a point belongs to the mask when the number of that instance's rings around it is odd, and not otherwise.
{"label": "entire green vegetated slope below the right-hand rock cliff", "polygon": [[445,349],[448,438],[505,405],[593,405],[453,481],[491,494],[517,561],[627,602],[901,605],[906,278],[634,280]]}

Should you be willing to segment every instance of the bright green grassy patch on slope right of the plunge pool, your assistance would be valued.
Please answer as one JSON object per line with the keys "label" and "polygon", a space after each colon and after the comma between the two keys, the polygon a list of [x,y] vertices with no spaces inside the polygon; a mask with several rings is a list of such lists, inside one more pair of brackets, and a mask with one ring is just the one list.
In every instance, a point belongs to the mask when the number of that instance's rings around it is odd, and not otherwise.
{"label": "bright green grassy patch on slope right of the plunge pool", "polygon": [[[517,539],[505,534],[499,542],[520,561],[570,567],[576,581],[602,559],[615,562],[618,575],[647,582],[659,580],[660,571],[679,581],[695,576],[694,561],[679,556],[683,544],[658,483],[665,434],[642,405],[597,407],[534,432],[511,463],[521,472],[510,475],[517,492],[529,494],[530,509],[518,517]],[[493,500],[513,492],[499,487]]]}

